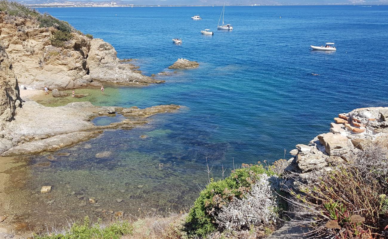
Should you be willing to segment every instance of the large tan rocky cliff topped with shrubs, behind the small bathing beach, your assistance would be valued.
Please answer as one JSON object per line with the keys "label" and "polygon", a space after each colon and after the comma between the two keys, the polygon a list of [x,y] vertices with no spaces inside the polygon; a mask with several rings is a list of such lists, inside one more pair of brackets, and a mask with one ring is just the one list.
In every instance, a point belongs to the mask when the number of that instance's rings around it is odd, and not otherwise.
{"label": "large tan rocky cliff topped with shrubs, behind the small bathing beach", "polygon": [[0,1],[0,25],[0,40],[14,74],[28,88],[73,89],[95,80],[126,85],[163,82],[120,63],[109,43],[16,3]]}

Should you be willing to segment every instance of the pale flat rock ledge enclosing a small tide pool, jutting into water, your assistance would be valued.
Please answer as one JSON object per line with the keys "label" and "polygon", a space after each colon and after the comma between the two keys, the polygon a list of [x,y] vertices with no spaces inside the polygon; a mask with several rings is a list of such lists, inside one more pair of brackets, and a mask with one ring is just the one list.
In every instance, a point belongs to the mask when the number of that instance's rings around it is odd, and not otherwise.
{"label": "pale flat rock ledge enclosing a small tide pool, jutting into water", "polygon": [[[46,107],[26,101],[16,117],[0,131],[0,156],[16,156],[55,151],[97,137],[104,129],[132,129],[149,122],[157,113],[174,112],[179,105],[159,105],[145,109],[95,106],[74,102],[65,106]],[[122,114],[126,119],[106,126],[95,126],[94,117]]]}

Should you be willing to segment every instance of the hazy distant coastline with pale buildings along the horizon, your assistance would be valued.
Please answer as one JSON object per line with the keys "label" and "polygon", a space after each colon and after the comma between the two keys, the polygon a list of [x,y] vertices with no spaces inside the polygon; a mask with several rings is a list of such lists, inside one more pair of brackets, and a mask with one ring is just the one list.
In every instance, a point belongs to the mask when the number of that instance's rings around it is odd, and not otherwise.
{"label": "hazy distant coastline with pale buildings along the horizon", "polygon": [[[223,0],[115,0],[115,1],[68,1],[24,0],[30,7],[112,7],[112,6],[202,6],[223,5]],[[229,0],[226,5],[315,5],[315,4],[388,4],[388,0]]]}

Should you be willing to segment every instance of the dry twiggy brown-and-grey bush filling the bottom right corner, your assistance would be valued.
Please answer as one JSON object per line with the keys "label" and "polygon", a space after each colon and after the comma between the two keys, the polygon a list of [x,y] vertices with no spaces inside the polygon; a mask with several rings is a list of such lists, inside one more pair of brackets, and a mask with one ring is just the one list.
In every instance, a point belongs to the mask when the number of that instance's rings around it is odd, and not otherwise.
{"label": "dry twiggy brown-and-grey bush filling the bottom right corner", "polygon": [[388,148],[374,142],[349,163],[310,174],[315,180],[302,193],[289,189],[292,225],[309,227],[306,238],[387,238],[387,156]]}

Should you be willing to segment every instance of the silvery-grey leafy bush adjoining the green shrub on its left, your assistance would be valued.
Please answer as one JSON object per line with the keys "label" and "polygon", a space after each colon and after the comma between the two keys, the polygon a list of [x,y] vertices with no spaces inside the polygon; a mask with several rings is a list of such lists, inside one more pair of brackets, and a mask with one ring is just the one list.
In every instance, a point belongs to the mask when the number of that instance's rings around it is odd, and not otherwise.
{"label": "silvery-grey leafy bush adjoining the green shrub on its left", "polygon": [[253,226],[267,226],[276,222],[277,197],[271,187],[270,177],[260,175],[245,197],[234,198],[223,207],[217,216],[217,223],[227,230],[246,230]]}

